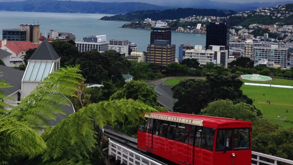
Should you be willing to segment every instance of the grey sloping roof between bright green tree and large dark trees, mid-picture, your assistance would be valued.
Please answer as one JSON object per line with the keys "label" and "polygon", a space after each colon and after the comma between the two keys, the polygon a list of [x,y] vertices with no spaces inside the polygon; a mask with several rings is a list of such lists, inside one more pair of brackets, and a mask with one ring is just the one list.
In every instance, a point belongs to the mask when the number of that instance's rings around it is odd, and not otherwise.
{"label": "grey sloping roof between bright green tree and large dark trees, mid-picture", "polygon": [[173,112],[173,106],[176,99],[173,98],[171,85],[156,85],[155,92],[159,94],[157,102]]}

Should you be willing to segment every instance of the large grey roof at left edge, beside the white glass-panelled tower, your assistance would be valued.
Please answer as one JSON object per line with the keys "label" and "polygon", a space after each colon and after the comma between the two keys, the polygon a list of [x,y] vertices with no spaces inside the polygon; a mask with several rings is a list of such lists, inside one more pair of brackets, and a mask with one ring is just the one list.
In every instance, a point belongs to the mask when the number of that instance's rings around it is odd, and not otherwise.
{"label": "large grey roof at left edge, beside the white glass-panelled tower", "polygon": [[4,65],[0,65],[0,71],[3,72],[0,74],[0,80],[4,80],[10,86],[13,86],[11,88],[2,88],[4,95],[11,95],[21,89],[24,71]]}

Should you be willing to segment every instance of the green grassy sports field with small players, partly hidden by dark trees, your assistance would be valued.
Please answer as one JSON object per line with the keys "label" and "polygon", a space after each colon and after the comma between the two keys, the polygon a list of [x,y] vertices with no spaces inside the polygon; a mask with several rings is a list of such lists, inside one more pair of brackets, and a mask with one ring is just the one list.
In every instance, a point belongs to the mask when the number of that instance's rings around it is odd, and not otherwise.
{"label": "green grassy sports field with small players, partly hidden by dark trees", "polygon": [[[167,85],[176,85],[184,78],[174,78],[166,80]],[[293,86],[293,80],[286,79],[276,79],[272,81],[249,81],[243,80],[243,82],[251,83],[262,83],[262,84],[274,84],[274,85],[288,85]],[[243,85],[241,87],[243,94],[247,95],[252,100],[253,105],[260,109],[263,115],[272,123],[280,124],[283,127],[292,127],[293,124],[289,122],[284,122],[284,120],[277,120],[277,116],[280,116],[281,119],[285,117],[287,120],[293,121],[293,89],[287,88],[277,88],[277,87],[259,87],[259,86],[249,86]],[[263,96],[265,94],[265,96]],[[271,104],[267,103],[267,100],[271,101]],[[286,113],[288,109],[288,113]]]}

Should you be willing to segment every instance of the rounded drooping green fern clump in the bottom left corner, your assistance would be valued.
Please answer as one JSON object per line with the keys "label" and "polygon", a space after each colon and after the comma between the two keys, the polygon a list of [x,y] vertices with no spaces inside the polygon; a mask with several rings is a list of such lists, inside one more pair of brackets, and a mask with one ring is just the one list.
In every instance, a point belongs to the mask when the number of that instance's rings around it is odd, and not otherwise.
{"label": "rounded drooping green fern clump in the bottom left corner", "polygon": [[0,164],[19,157],[33,158],[46,149],[43,139],[31,128],[9,117],[0,117]]}

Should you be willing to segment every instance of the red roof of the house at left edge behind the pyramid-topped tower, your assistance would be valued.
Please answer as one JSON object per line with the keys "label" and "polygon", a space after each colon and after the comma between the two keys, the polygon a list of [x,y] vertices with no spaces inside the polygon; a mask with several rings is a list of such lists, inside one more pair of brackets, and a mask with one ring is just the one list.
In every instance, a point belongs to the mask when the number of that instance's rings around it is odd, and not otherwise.
{"label": "red roof of the house at left edge behind the pyramid-topped tower", "polygon": [[[2,44],[2,42],[0,42],[0,45]],[[29,41],[7,41],[7,44],[5,46],[15,54],[18,54],[19,52],[26,51],[30,48],[37,48],[39,45],[40,44],[34,44]]]}

